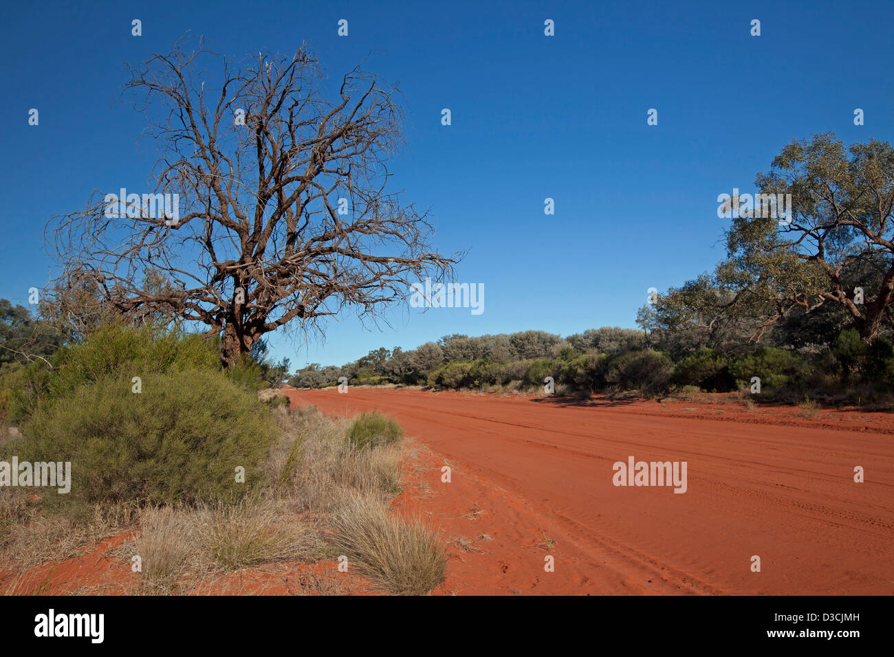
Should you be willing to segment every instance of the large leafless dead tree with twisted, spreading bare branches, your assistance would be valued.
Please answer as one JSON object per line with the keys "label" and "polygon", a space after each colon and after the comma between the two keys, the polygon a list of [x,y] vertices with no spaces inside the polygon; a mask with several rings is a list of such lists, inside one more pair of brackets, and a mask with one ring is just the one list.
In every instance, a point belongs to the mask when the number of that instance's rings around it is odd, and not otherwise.
{"label": "large leafless dead tree with twisted, spreading bare branches", "polygon": [[265,333],[322,332],[342,309],[375,321],[409,282],[451,274],[461,254],[434,251],[427,212],[386,189],[395,88],[360,67],[327,80],[305,46],[237,65],[183,43],[124,86],[160,149],[148,193],[95,192],[55,217],[57,283],[89,282],[123,316],[204,325],[232,366]]}

